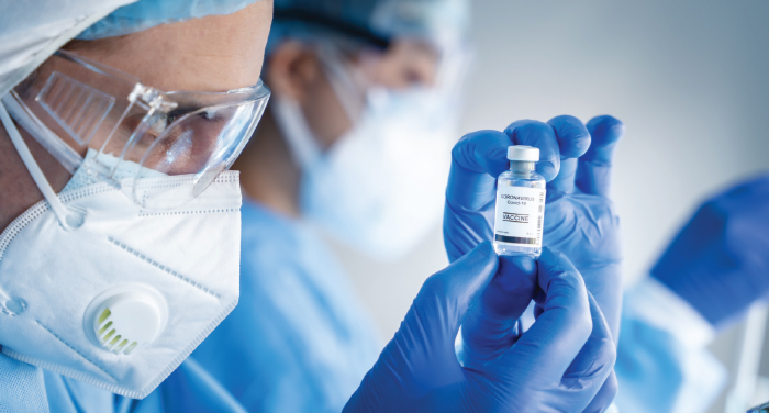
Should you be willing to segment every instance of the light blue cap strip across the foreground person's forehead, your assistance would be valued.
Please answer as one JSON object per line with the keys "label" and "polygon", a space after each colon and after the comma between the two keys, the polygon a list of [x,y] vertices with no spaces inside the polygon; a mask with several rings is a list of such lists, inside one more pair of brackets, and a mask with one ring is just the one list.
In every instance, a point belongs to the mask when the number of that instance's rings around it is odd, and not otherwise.
{"label": "light blue cap strip across the foreground person's forehead", "polygon": [[234,13],[258,0],[138,0],[86,29],[77,38],[94,40],[140,32],[164,23]]}

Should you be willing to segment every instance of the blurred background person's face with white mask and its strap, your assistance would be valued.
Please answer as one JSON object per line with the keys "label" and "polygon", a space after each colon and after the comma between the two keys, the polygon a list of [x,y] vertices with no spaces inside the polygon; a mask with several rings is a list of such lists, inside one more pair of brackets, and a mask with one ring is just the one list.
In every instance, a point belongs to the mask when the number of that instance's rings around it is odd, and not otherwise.
{"label": "blurred background person's face with white mask and its strap", "polygon": [[[441,154],[450,152],[459,120],[460,82],[447,81],[443,55],[422,40],[399,42],[368,51],[315,41],[333,91],[325,97],[339,104],[314,118],[282,96],[272,107],[302,170],[302,216],[380,260],[402,257],[438,223],[449,166]],[[345,116],[348,129],[327,146],[309,121]]]}

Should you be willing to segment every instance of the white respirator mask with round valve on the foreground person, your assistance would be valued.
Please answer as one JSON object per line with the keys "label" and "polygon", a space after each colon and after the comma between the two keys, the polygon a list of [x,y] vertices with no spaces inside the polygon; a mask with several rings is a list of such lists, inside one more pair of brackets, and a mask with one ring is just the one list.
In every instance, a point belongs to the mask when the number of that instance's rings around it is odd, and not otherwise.
{"label": "white respirator mask with round valve on the foreground person", "polygon": [[94,178],[89,150],[56,196],[2,104],[0,118],[46,198],[0,234],[2,354],[146,397],[237,304],[238,174],[219,174],[182,206],[148,210],[135,198],[192,192],[194,176],[101,154],[114,185]]}

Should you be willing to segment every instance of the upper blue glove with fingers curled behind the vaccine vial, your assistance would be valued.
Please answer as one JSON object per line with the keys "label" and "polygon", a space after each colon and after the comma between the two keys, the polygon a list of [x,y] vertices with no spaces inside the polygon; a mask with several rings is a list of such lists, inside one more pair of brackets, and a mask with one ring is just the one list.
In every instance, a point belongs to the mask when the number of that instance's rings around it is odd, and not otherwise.
{"label": "upper blue glove with fingers curled behind the vaccine vial", "polygon": [[[519,121],[504,130],[464,136],[452,150],[444,243],[455,260],[493,239],[497,177],[510,168],[508,146],[539,148],[537,171],[547,179],[543,245],[566,254],[581,272],[614,338],[622,304],[620,220],[608,198],[614,146],[622,122],[598,116],[587,126],[573,116],[548,123]],[[591,138],[592,137],[592,138]]]}

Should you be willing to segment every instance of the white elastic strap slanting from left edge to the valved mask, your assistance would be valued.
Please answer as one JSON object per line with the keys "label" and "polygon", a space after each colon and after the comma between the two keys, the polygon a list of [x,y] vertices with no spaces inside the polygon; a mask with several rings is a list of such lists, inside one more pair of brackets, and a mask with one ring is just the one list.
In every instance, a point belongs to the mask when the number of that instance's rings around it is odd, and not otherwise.
{"label": "white elastic strap slanting from left edge to the valved mask", "polygon": [[0,102],[0,121],[2,121],[3,126],[5,126],[5,131],[8,132],[11,142],[13,143],[13,146],[15,146],[19,156],[21,156],[21,160],[26,166],[26,169],[30,171],[32,179],[37,185],[40,191],[43,192],[45,200],[48,201],[51,210],[53,210],[54,214],[56,214],[59,224],[67,231],[75,230],[82,225],[82,216],[80,214],[70,213],[62,200],[58,199],[56,192],[54,192],[54,189],[51,187],[51,183],[45,178],[40,165],[37,165],[37,161],[32,156],[30,148],[21,137],[16,125],[13,123],[13,120],[11,120],[11,116],[8,114],[8,111],[2,102]]}

